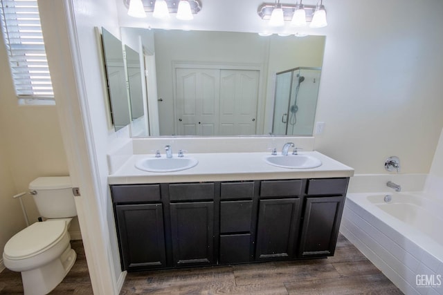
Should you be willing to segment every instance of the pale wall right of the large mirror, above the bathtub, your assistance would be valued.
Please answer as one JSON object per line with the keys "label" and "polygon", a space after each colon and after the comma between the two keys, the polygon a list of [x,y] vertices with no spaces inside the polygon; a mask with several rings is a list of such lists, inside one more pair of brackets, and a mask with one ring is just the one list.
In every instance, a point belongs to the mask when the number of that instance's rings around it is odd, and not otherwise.
{"label": "pale wall right of the large mirror, above the bathtub", "polygon": [[316,149],[356,173],[386,173],[390,155],[400,158],[401,173],[430,169],[443,125],[443,2],[416,4],[328,6],[317,113],[326,126]]}

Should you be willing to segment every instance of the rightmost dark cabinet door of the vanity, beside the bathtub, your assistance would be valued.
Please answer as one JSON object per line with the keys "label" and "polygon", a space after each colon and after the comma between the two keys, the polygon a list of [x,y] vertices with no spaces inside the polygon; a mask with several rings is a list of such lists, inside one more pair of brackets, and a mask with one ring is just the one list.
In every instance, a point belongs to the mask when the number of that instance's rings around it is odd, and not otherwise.
{"label": "rightmost dark cabinet door of the vanity, beside the bathtub", "polygon": [[307,198],[300,257],[334,255],[344,200],[344,196]]}

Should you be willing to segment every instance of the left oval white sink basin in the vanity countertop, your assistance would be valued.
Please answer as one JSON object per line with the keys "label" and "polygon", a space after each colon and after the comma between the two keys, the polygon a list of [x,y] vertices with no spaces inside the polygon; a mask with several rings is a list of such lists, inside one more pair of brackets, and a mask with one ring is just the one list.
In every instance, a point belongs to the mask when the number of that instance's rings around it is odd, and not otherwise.
{"label": "left oval white sink basin in the vanity countertop", "polygon": [[136,168],[148,172],[174,172],[190,169],[199,164],[195,158],[144,158],[136,162]]}

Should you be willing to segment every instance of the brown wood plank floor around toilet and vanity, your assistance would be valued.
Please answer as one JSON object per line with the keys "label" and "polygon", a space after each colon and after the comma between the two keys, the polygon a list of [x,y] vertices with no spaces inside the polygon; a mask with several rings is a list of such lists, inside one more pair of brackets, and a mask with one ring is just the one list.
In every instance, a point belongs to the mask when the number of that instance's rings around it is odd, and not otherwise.
{"label": "brown wood plank floor around toilet and vanity", "polygon": [[[92,294],[81,241],[71,272],[50,294]],[[23,294],[21,276],[5,269],[0,294]],[[127,274],[120,295],[128,294],[402,294],[346,238],[338,237],[334,257],[169,269]]]}

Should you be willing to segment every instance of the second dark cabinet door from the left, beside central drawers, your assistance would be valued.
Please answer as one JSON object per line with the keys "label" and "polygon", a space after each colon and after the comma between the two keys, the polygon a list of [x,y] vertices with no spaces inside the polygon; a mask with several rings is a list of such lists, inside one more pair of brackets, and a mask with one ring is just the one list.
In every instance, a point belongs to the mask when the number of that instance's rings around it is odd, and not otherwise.
{"label": "second dark cabinet door from the left, beside central drawers", "polygon": [[176,266],[214,263],[214,202],[172,203],[172,258]]}

